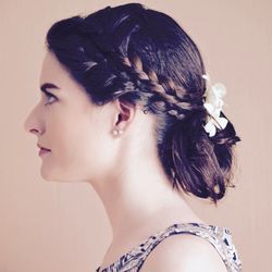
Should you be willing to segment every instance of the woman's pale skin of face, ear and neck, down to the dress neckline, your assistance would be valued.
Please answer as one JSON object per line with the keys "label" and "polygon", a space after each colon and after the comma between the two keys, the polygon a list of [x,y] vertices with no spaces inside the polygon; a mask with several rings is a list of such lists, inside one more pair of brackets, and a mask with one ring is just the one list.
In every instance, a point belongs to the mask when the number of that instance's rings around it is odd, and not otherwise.
{"label": "woman's pale skin of face, ear and neck, down to the dress neckline", "polygon": [[[87,182],[99,195],[113,237],[102,268],[173,223],[205,223],[183,194],[172,189],[162,170],[150,113],[119,100],[103,107],[92,104],[51,52],[42,62],[40,85],[44,83],[60,88],[48,89],[57,99],[41,94],[25,129],[51,149],[40,157],[42,178]],[[123,134],[114,136],[114,128]]]}

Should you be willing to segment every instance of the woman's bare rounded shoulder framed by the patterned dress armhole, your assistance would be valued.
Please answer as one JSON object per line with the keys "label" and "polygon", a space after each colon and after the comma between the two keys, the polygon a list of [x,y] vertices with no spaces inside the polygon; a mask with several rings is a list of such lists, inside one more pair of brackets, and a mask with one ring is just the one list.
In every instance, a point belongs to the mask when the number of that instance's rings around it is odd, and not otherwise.
{"label": "woman's bare rounded shoulder framed by the patterned dress armhole", "polygon": [[172,235],[163,239],[145,260],[141,272],[227,272],[217,249],[206,239]]}

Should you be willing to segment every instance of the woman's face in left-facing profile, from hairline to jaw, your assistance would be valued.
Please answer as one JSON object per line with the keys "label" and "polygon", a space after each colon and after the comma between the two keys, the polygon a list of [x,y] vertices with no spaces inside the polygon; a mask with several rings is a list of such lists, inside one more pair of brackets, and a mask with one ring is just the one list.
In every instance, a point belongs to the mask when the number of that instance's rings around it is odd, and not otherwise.
{"label": "woman's face in left-facing profile, from hairline to jaw", "polygon": [[25,121],[25,129],[37,136],[37,144],[51,150],[40,156],[41,176],[54,181],[99,178],[113,158],[115,108],[92,104],[51,52],[42,62],[40,86],[45,84],[58,88],[47,88],[51,97],[41,91]]}

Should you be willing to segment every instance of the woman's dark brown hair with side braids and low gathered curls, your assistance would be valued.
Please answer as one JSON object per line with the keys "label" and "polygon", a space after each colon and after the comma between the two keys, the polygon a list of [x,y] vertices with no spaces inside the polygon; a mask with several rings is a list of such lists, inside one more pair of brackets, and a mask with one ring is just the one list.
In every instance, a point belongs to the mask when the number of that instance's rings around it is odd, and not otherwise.
{"label": "woman's dark brown hair with side braids and low gathered curls", "polygon": [[156,115],[158,154],[173,188],[217,205],[235,187],[240,138],[230,120],[213,137],[203,129],[203,61],[171,16],[140,3],[107,7],[55,22],[46,45],[92,103],[120,99]]}

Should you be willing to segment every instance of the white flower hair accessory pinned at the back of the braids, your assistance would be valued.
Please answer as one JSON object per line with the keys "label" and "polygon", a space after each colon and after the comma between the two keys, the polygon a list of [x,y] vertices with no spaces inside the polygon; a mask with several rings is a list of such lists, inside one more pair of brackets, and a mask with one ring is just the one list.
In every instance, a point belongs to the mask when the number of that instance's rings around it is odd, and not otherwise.
{"label": "white flower hair accessory pinned at the back of the braids", "polygon": [[222,83],[211,85],[209,74],[205,74],[202,77],[207,81],[207,88],[203,95],[206,97],[203,107],[209,113],[203,128],[209,133],[209,137],[213,137],[217,133],[217,127],[224,129],[228,122],[225,118],[220,118],[220,112],[224,104],[222,98],[226,94],[226,88]]}

